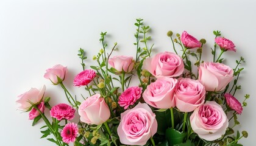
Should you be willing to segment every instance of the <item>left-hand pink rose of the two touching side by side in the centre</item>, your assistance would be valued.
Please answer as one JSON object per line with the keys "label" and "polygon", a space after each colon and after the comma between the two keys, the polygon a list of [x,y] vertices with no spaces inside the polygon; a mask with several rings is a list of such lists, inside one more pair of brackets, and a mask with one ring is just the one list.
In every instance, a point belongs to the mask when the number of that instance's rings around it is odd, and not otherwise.
{"label": "left-hand pink rose of the two touching side by side in the centre", "polygon": [[143,92],[143,99],[155,108],[175,107],[174,88],[176,78],[160,77]]}

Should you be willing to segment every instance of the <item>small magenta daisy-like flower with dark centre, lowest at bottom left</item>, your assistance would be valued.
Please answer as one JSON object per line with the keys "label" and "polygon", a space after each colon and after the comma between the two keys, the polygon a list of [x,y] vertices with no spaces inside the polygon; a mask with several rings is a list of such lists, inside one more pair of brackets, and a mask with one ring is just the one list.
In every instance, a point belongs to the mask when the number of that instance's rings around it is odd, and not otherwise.
{"label": "small magenta daisy-like flower with dark centre, lowest at bottom left", "polygon": [[78,128],[76,123],[68,123],[63,128],[62,132],[60,133],[62,136],[62,141],[66,142],[67,144],[69,142],[76,141],[76,137],[78,135]]}

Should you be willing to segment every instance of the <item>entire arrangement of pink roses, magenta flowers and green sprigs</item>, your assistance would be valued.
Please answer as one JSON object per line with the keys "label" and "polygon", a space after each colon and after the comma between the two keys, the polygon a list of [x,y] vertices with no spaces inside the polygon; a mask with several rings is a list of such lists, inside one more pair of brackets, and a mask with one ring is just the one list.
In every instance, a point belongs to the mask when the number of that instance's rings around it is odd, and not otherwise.
{"label": "entire arrangement of pink roses, magenta flowers and green sprigs", "polygon": [[[235,98],[244,69],[239,66],[245,61],[241,57],[230,68],[222,58],[224,52],[236,52],[233,42],[214,31],[213,58],[202,60],[204,39],[169,31],[174,52],[152,55],[150,27],[144,26],[143,19],[137,19],[135,26],[135,58],[112,57],[117,43],[108,49],[107,32],[101,33],[102,49],[93,57],[98,65],[86,69],[87,57],[79,50],[83,71],[74,77],[73,85],[85,89],[81,95],[87,98],[82,102],[65,87],[68,69],[60,64],[47,69],[44,78],[63,88],[69,105],[51,106],[51,98],[44,97],[45,86],[18,96],[18,109],[29,112],[32,125],[44,120],[41,138],[52,135],[48,141],[59,146],[241,145],[238,140],[248,134],[235,133],[233,128],[240,124],[237,114],[249,99],[249,94],[242,103]],[[134,80],[139,85],[130,86]],[[44,114],[46,108],[51,117]],[[76,112],[79,122],[73,121]]]}

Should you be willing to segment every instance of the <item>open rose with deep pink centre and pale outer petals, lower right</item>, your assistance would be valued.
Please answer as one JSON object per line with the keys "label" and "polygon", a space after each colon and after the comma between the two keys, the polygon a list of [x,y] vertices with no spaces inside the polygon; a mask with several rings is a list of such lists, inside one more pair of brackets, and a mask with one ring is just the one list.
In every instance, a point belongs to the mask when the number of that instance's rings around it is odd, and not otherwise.
{"label": "open rose with deep pink centre and pale outer petals, lower right", "polygon": [[229,126],[229,120],[221,106],[209,101],[194,110],[190,123],[193,131],[207,141],[220,138]]}

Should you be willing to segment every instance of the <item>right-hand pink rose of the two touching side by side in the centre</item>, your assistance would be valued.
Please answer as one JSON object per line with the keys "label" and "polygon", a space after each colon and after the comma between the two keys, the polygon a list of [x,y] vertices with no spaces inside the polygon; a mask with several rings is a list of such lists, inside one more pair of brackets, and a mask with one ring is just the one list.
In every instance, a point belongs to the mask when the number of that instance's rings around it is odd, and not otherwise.
{"label": "right-hand pink rose of the two touching side by side in the centre", "polygon": [[202,105],[205,99],[204,86],[191,78],[178,79],[174,90],[176,107],[182,112],[191,112]]}

